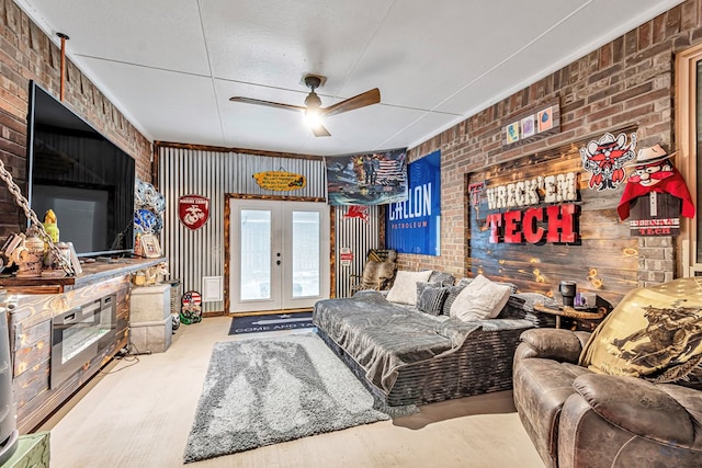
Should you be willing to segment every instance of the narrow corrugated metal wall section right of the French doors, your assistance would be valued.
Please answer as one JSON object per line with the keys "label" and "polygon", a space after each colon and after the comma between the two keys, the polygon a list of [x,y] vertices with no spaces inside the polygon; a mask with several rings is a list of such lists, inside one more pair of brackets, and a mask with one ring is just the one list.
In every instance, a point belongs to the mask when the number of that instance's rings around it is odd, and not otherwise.
{"label": "narrow corrugated metal wall section right of the French doors", "polygon": [[[351,275],[363,274],[365,255],[370,249],[381,249],[381,209],[369,206],[367,220],[359,217],[346,216],[348,206],[336,206],[336,265],[337,265],[337,297],[351,296]],[[351,249],[353,261],[349,266],[341,265],[340,251]]]}

